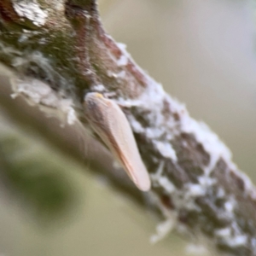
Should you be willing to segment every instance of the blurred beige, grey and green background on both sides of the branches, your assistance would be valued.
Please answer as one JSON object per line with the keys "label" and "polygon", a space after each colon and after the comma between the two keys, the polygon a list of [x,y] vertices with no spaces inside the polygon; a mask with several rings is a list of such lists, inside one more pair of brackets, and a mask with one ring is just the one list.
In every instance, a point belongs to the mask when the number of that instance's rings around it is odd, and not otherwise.
{"label": "blurred beige, grey and green background on both sides of the branches", "polygon": [[[255,3],[101,0],[99,7],[109,34],[218,134],[256,183]],[[189,241],[174,235],[151,245],[154,216],[84,172],[36,131],[17,127],[1,102],[0,131],[0,166],[11,170],[0,186],[1,256],[186,253]]]}

